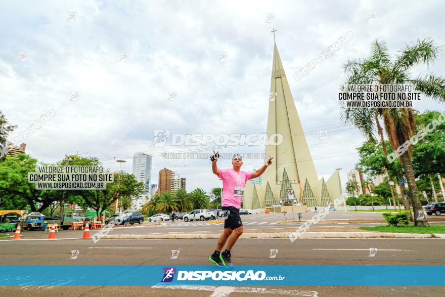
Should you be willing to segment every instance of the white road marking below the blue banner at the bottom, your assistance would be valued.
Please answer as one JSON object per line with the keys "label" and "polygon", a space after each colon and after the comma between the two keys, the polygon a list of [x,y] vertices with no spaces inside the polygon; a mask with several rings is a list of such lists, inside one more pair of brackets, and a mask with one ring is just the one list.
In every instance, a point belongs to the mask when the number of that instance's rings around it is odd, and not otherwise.
{"label": "white road marking below the blue banner at the bottom", "polygon": [[[305,291],[305,290],[285,290],[285,289],[270,289],[270,288],[255,288],[255,287],[228,287],[226,292],[222,287],[217,286],[152,286],[152,288],[160,289],[183,289],[183,290],[200,290],[200,291],[212,291],[211,296],[228,296],[231,292],[250,293],[250,294],[264,294],[264,295],[287,295],[287,296],[305,296],[305,297],[317,297],[317,291]],[[216,293],[216,294],[215,294]]]}

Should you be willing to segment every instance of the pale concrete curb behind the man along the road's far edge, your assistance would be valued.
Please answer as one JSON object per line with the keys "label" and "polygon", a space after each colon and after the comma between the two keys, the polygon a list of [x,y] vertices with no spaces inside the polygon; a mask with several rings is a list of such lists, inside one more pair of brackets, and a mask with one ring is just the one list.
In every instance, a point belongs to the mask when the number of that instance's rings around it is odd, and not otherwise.
{"label": "pale concrete curb behind the man along the road's far edge", "polygon": [[[290,232],[243,233],[241,238],[289,238]],[[121,234],[106,235],[104,239],[217,239],[221,234]],[[437,237],[445,238],[445,234]],[[425,233],[384,233],[384,232],[305,232],[298,238],[431,238]]]}

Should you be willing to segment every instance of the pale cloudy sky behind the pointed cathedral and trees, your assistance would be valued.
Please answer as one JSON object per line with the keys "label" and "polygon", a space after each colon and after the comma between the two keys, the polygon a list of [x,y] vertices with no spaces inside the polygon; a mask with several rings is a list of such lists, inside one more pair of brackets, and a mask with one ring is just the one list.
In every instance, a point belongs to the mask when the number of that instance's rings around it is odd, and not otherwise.
{"label": "pale cloudy sky behind the pointed cathedral and trees", "polygon": [[[438,1],[3,2],[1,110],[18,125],[11,139],[55,111],[23,141],[39,161],[79,153],[117,170],[115,157],[126,160],[123,169],[131,172],[132,155],[142,151],[154,156],[154,183],[167,167],[187,178],[188,191],[210,190],[220,186],[210,160],[163,159],[162,153],[211,152],[215,145],[154,149],[153,130],[264,133],[275,28],[318,175],[328,178],[343,168],[344,184],[363,138],[340,121],[342,65],[367,56],[376,38],[392,55],[427,36],[444,45],[444,10]],[[353,39],[329,59],[299,81],[292,77],[349,31]],[[413,75],[445,75],[444,61],[416,66]],[[169,92],[176,92],[174,100],[167,100]],[[444,106],[424,98],[416,109]],[[320,130],[328,131],[326,139]],[[262,153],[264,147],[219,151]],[[262,164],[245,160],[243,169]]]}

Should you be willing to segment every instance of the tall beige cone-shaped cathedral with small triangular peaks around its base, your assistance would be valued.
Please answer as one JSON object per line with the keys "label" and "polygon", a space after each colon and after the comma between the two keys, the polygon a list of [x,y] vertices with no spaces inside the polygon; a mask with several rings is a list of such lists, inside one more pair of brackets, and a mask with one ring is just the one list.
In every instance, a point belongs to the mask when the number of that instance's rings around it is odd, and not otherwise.
{"label": "tall beige cone-shaped cathedral with small triangular peaks around its base", "polygon": [[282,135],[283,142],[266,145],[264,162],[272,156],[273,163],[262,174],[261,186],[246,183],[244,208],[291,205],[293,199],[307,206],[327,206],[342,194],[339,169],[327,181],[318,179],[275,42],[267,133]]}

